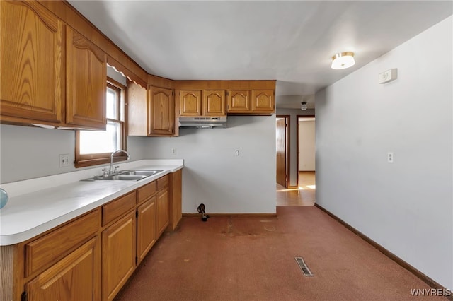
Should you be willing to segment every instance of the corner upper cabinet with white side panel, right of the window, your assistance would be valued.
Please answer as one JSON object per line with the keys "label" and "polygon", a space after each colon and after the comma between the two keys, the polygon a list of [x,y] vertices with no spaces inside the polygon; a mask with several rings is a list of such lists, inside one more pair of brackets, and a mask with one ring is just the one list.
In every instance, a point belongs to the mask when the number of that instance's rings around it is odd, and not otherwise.
{"label": "corner upper cabinet with white side panel, right of the window", "polygon": [[127,83],[127,123],[129,136],[173,136],[173,90]]}

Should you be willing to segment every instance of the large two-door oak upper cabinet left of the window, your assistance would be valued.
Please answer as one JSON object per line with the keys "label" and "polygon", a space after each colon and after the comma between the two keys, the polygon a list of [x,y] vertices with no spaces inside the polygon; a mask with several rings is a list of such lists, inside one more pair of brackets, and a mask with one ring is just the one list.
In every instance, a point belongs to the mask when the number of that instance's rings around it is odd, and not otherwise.
{"label": "large two-door oak upper cabinet left of the window", "polygon": [[105,129],[105,53],[39,1],[0,1],[1,122]]}

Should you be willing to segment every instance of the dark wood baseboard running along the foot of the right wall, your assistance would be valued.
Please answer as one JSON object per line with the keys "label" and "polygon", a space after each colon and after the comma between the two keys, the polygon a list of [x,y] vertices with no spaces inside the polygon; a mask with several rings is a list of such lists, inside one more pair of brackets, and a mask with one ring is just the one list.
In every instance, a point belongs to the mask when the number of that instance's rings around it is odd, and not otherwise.
{"label": "dark wood baseboard running along the foot of the right wall", "polygon": [[[322,206],[320,206],[319,204],[315,203],[314,206],[316,206],[317,208],[321,209],[321,211],[325,212],[328,216],[331,216],[331,218],[333,218],[334,220],[338,221],[338,223],[340,223],[341,225],[344,225],[346,228],[348,228],[348,230],[350,230],[352,233],[354,233],[355,235],[357,235],[358,237],[362,238],[362,240],[365,240],[365,242],[368,242],[369,244],[371,244],[373,247],[375,247],[376,249],[379,250],[379,252],[381,252],[382,254],[384,254],[385,256],[389,257],[389,259],[393,260],[396,262],[396,264],[399,264],[400,266],[402,266],[403,268],[406,268],[406,270],[410,271],[411,273],[413,273],[415,276],[417,276],[418,278],[420,278],[421,281],[423,281],[424,283],[430,285],[431,288],[435,288],[435,289],[439,289],[439,290],[447,290],[447,288],[443,287],[442,285],[440,285],[439,283],[437,283],[436,281],[432,280],[432,278],[426,276],[424,273],[418,271],[417,268],[414,268],[413,266],[411,266],[411,264],[408,264],[406,261],[403,261],[403,259],[399,258],[398,256],[396,256],[395,254],[393,254],[392,252],[390,252],[388,249],[382,247],[382,245],[378,244],[377,242],[374,242],[374,240],[372,240],[371,238],[367,237],[366,235],[364,235],[362,232],[360,232],[359,230],[353,228],[351,225],[349,225],[348,223],[346,223],[345,221],[343,221],[342,219],[338,218],[338,216],[334,215],[333,213],[331,213],[330,211],[328,211],[327,209],[323,208]],[[447,299],[449,300],[453,300],[453,294],[450,295],[450,296],[444,296],[444,297],[447,297]]]}

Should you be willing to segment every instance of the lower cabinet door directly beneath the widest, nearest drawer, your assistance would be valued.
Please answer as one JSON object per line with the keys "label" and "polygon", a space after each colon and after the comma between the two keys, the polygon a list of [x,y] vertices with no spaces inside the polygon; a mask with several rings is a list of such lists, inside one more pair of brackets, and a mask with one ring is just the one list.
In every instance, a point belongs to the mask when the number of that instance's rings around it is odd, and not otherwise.
{"label": "lower cabinet door directly beneath the widest, nearest drawer", "polygon": [[98,237],[83,244],[25,285],[28,301],[100,300],[101,256]]}

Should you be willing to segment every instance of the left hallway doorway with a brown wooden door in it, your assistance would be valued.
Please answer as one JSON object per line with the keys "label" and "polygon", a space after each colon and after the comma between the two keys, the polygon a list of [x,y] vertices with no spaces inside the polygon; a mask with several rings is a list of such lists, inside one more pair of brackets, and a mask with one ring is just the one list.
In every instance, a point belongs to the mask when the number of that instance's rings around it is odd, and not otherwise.
{"label": "left hallway doorway with a brown wooden door in it", "polygon": [[289,179],[289,115],[277,115],[275,124],[277,184],[288,187]]}

